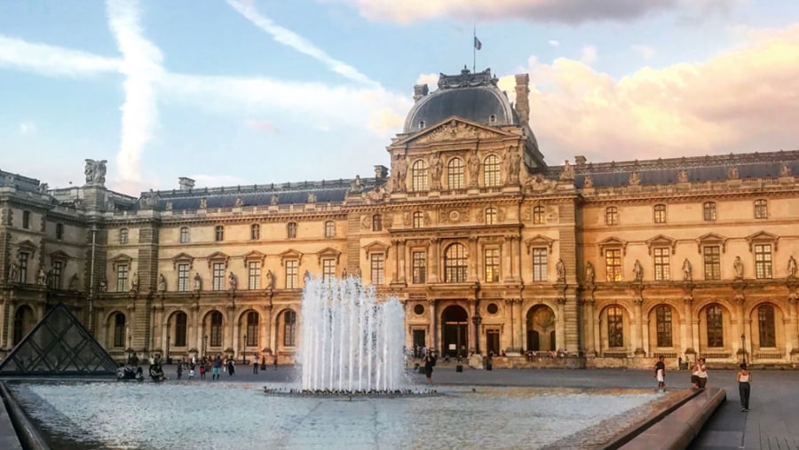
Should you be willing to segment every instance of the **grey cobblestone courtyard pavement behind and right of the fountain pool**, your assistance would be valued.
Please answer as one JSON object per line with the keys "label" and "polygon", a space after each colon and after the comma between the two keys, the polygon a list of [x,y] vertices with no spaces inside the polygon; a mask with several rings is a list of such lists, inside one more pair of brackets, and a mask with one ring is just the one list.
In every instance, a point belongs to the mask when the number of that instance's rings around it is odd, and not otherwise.
{"label": "grey cobblestone courtyard pavement behind and right of the fountain pool", "polygon": [[[175,367],[165,372],[175,378]],[[799,371],[765,370],[752,372],[752,394],[749,412],[740,412],[735,371],[710,370],[708,385],[727,391],[727,400],[716,410],[694,440],[692,449],[774,449],[799,450]],[[238,366],[233,376],[222,375],[223,382],[233,383],[288,383],[299,378],[295,367],[267,366],[252,373],[251,366]],[[424,375],[408,369],[411,383],[423,388]],[[597,388],[653,388],[656,382],[648,370],[622,369],[496,369],[474,370],[464,366],[455,371],[455,364],[439,364],[432,375],[433,386],[438,384],[506,385],[536,387],[597,387]],[[184,376],[186,381],[186,376]],[[688,371],[668,370],[667,388],[690,388]],[[192,383],[199,383],[195,378]],[[210,382],[208,380],[203,383]]]}

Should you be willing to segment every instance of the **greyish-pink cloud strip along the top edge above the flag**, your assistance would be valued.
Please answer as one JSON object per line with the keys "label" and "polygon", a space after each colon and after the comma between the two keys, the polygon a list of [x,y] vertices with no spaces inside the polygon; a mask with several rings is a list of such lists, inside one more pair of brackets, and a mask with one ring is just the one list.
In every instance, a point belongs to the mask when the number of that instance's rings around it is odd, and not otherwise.
{"label": "greyish-pink cloud strip along the top edge above the flag", "polygon": [[530,20],[577,24],[592,20],[635,20],[680,10],[726,11],[741,0],[328,0],[349,4],[375,21],[411,23],[440,17],[456,20]]}

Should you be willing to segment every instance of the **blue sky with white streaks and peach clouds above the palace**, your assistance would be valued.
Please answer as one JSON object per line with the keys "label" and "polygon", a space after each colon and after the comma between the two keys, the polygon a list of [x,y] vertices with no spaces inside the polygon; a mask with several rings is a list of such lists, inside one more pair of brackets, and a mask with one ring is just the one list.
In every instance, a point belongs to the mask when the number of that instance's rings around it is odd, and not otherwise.
{"label": "blue sky with white streaks and peach clouds above the palace", "polygon": [[[481,48],[474,49],[473,35]],[[491,68],[545,162],[799,149],[799,2],[0,1],[0,169],[51,187],[374,176],[413,86]]]}

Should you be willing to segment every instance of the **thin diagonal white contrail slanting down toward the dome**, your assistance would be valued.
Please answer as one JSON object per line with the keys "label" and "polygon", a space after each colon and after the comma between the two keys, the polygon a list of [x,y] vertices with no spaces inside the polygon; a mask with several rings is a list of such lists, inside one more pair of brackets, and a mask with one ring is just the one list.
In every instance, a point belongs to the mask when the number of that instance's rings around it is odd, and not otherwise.
{"label": "thin diagonal white contrail slanting down toward the dome", "polygon": [[299,36],[297,33],[289,30],[288,28],[283,28],[274,23],[273,20],[269,19],[261,12],[258,12],[255,5],[251,2],[245,3],[237,0],[227,0],[227,4],[233,7],[236,12],[239,12],[247,20],[255,24],[257,28],[261,28],[266,33],[271,35],[275,41],[287,45],[290,48],[299,51],[300,53],[304,53],[313,59],[321,61],[336,74],[342,75],[345,78],[357,83],[364,83],[374,86],[378,85],[378,83],[375,81],[370,80],[367,75],[361,74],[355,67],[339,61],[338,59],[331,58],[325,51],[322,51],[319,47],[309,42],[303,36]]}

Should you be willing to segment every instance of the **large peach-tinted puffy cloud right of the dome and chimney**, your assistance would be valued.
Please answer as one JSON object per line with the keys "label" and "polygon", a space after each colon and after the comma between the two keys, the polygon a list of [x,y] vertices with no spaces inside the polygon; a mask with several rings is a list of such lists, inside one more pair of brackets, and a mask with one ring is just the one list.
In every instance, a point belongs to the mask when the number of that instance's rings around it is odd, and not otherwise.
{"label": "large peach-tinted puffy cloud right of the dome and chimney", "polygon": [[550,161],[610,161],[791,148],[799,141],[799,25],[744,36],[746,45],[713,59],[619,80],[572,59],[531,58],[530,124],[542,152]]}

